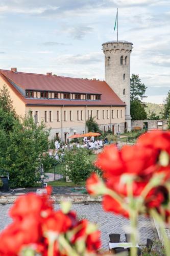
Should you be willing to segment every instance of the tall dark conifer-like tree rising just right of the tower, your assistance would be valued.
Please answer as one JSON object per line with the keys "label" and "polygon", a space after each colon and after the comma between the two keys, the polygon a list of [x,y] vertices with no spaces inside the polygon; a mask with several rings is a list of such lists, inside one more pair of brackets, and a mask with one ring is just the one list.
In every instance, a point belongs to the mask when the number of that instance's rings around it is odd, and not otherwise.
{"label": "tall dark conifer-like tree rising just right of the tower", "polygon": [[130,79],[131,101],[141,101],[143,98],[146,98],[147,96],[144,95],[146,90],[147,87],[144,85],[144,83],[141,83],[139,75],[132,74],[132,77]]}

